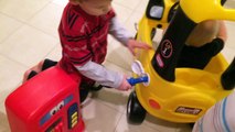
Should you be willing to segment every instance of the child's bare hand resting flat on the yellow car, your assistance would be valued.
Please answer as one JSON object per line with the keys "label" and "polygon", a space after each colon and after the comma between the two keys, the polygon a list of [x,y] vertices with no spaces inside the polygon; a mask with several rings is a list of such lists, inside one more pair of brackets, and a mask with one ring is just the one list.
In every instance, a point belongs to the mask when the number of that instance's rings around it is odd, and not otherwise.
{"label": "child's bare hand resting flat on the yellow car", "polygon": [[132,38],[130,38],[128,41],[127,47],[132,53],[133,56],[136,56],[135,48],[142,48],[142,50],[150,50],[150,48],[152,48],[148,44],[142,43],[142,42],[138,42],[138,41],[132,40]]}

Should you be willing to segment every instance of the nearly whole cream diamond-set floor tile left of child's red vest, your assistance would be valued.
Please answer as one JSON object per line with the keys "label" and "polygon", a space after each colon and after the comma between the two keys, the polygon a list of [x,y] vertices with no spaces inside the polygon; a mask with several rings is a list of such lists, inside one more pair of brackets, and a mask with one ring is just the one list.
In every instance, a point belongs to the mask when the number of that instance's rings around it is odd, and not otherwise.
{"label": "nearly whole cream diamond-set floor tile left of child's red vest", "polygon": [[0,53],[26,66],[33,66],[53,50],[58,40],[24,25],[1,44]]}

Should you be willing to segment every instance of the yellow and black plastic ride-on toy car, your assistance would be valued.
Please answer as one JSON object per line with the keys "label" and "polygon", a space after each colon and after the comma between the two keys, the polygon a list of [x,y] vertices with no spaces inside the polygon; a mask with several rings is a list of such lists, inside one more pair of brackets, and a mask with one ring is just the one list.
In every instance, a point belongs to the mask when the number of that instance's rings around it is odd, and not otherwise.
{"label": "yellow and black plastic ride-on toy car", "polygon": [[152,46],[151,38],[156,28],[165,29],[169,22],[170,24],[157,51],[138,51],[138,59],[151,81],[148,86],[136,85],[130,94],[127,105],[128,122],[141,123],[148,112],[172,122],[193,123],[215,102],[233,91],[233,87],[225,88],[226,85],[223,84],[228,80],[223,80],[222,76],[234,66],[228,67],[221,53],[204,69],[175,67],[184,42],[199,22],[213,19],[235,20],[235,11],[224,9],[221,2],[149,1],[146,14],[139,23],[137,40]]}

